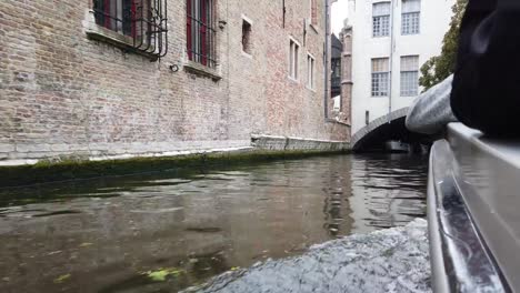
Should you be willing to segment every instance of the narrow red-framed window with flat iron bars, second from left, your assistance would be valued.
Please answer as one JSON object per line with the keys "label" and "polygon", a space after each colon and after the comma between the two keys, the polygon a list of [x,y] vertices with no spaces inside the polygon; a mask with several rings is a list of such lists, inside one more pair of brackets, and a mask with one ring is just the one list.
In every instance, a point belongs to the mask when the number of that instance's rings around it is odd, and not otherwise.
{"label": "narrow red-framed window with flat iron bars, second from left", "polygon": [[213,0],[187,0],[187,51],[191,61],[217,65]]}

